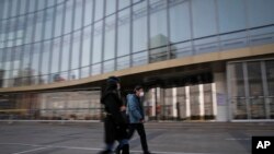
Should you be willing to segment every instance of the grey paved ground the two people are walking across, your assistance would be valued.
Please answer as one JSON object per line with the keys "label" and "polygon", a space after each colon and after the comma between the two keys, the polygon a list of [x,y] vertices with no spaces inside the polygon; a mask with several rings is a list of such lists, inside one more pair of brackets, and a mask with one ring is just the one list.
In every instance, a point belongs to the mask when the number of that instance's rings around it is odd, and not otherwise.
{"label": "grey paved ground the two people are walking across", "polygon": [[[274,135],[272,126],[162,122],[146,128],[149,149],[157,154],[250,154],[251,137]],[[102,123],[0,122],[0,154],[96,154],[103,146]],[[130,153],[141,153],[137,133]]]}

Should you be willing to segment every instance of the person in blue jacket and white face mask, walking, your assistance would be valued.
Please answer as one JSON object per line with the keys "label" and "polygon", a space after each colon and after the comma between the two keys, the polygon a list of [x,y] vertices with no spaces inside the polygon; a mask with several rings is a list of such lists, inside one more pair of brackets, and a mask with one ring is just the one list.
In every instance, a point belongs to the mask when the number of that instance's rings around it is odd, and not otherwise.
{"label": "person in blue jacket and white face mask, walking", "polygon": [[148,151],[147,137],[144,127],[145,112],[140,100],[141,97],[144,97],[144,88],[140,85],[137,85],[134,88],[134,94],[127,95],[127,114],[129,117],[128,139],[132,139],[135,130],[137,130],[140,137],[144,154],[151,154]]}

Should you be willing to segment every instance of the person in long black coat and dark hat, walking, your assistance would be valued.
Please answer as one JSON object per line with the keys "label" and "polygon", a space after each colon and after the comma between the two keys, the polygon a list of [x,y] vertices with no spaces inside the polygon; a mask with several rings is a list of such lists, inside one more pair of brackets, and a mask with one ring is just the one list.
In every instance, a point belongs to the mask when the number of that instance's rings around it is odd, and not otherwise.
{"label": "person in long black coat and dark hat, walking", "polygon": [[121,110],[123,100],[119,95],[119,79],[110,76],[106,80],[106,88],[102,94],[101,103],[104,105],[104,131],[106,147],[100,154],[112,154],[114,142],[118,141],[122,154],[129,154],[129,145],[127,139],[127,122],[125,121]]}

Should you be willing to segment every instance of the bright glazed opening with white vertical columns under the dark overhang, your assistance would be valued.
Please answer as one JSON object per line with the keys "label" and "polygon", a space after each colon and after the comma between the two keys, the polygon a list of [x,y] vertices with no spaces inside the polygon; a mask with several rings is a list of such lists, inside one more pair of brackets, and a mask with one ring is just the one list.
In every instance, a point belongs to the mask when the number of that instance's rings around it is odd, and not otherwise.
{"label": "bright glazed opening with white vertical columns under the dark overhang", "polygon": [[216,117],[215,84],[151,87],[144,100],[148,120],[213,120]]}

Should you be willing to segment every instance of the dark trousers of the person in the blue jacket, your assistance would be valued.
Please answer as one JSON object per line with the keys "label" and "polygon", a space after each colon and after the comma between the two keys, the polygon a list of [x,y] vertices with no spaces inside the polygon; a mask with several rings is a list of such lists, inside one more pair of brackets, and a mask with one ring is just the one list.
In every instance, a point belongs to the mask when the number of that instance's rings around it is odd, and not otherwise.
{"label": "dark trousers of the person in the blue jacket", "polygon": [[142,123],[130,123],[128,127],[128,139],[132,139],[135,130],[137,130],[140,137],[140,143],[144,152],[148,152],[147,137]]}

